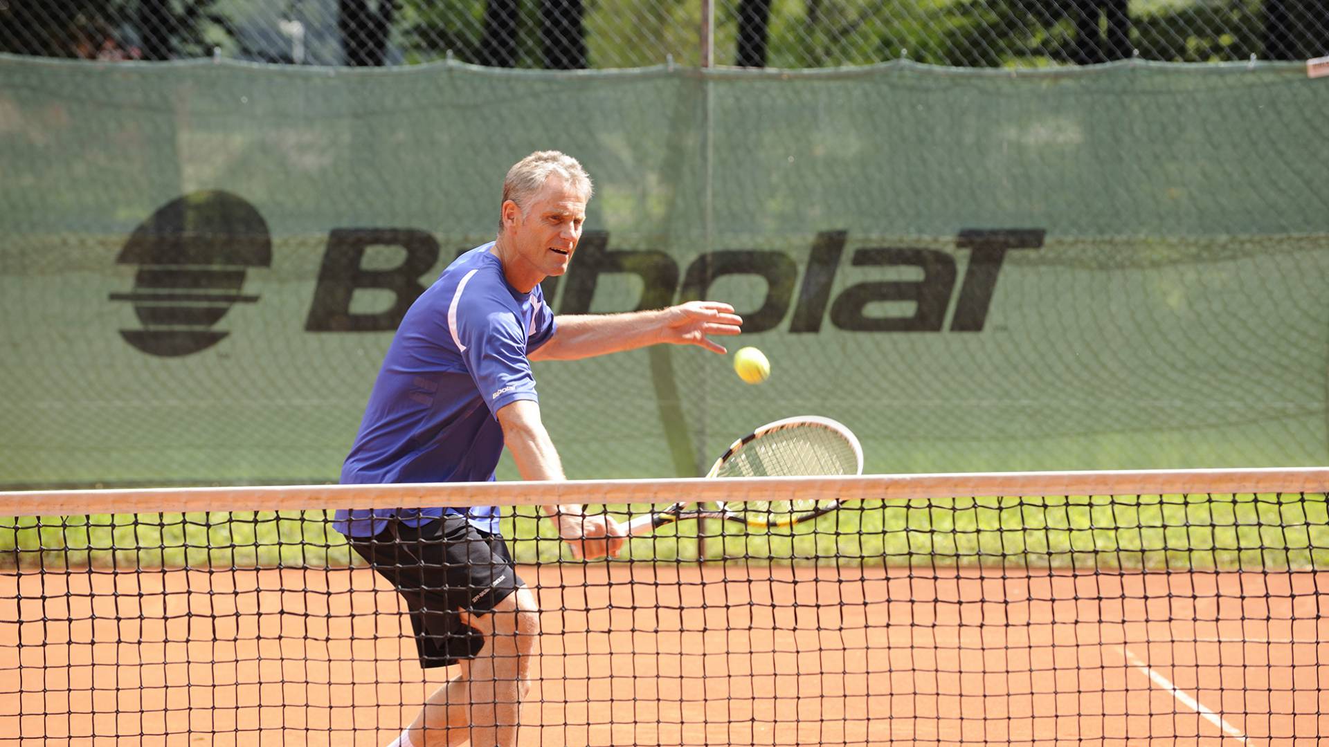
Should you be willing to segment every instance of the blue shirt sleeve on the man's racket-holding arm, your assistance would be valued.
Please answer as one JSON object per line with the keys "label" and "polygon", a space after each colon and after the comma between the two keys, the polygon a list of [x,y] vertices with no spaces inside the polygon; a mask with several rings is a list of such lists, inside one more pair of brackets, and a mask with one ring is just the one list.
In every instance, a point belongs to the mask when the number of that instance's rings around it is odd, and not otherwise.
{"label": "blue shirt sleeve on the man's racket-holding arm", "polygon": [[510,308],[498,303],[468,306],[456,331],[466,371],[490,413],[517,400],[540,399],[526,360],[526,335]]}

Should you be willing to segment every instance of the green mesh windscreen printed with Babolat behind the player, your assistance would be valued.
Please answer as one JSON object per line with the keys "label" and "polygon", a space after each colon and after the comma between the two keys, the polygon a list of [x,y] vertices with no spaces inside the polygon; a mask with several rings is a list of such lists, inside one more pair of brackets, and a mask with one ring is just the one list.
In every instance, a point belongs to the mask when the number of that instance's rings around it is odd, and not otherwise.
{"label": "green mesh windscreen printed with Babolat behind the player", "polygon": [[698,475],[792,415],[867,472],[1324,464],[1326,117],[1273,64],[0,56],[0,485],[335,480],[401,314],[550,148],[595,182],[552,306],[728,300],[772,370],[536,364],[571,477]]}

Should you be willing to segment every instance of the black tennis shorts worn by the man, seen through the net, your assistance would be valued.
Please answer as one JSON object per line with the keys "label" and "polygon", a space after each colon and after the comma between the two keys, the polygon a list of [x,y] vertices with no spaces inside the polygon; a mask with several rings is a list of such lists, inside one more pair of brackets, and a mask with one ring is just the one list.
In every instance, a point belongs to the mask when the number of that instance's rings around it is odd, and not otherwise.
{"label": "black tennis shorts worn by the man, seen through the net", "polygon": [[347,540],[405,599],[424,669],[480,654],[484,634],[459,613],[493,611],[525,586],[502,537],[476,529],[464,516],[447,514],[420,526],[391,520],[375,537]]}

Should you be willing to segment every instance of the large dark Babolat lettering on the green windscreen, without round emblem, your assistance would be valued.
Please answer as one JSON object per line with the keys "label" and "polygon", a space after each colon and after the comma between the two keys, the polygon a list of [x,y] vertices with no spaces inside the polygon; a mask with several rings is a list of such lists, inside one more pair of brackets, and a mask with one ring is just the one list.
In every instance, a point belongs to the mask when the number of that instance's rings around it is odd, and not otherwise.
{"label": "large dark Babolat lettering on the green windscreen, without round emblem", "polygon": [[[558,296],[558,314],[587,314],[595,284],[602,276],[635,275],[641,279],[642,291],[637,303],[637,310],[641,311],[708,298],[719,278],[750,275],[763,280],[766,294],[755,308],[739,310],[743,314],[744,334],[773,330],[785,319],[789,332],[819,332],[827,320],[852,332],[978,332],[987,322],[997,276],[1006,254],[1011,250],[1039,249],[1043,246],[1043,229],[965,229],[956,237],[956,249],[969,253],[969,262],[961,275],[954,255],[948,251],[869,246],[847,253],[847,231],[824,231],[812,242],[800,276],[799,263],[783,251],[708,251],[680,267],[678,259],[668,253],[613,250],[607,233],[586,233],[577,246],[567,275],[548,278],[542,286],[546,299],[556,298],[558,286],[563,286],[562,295]],[[368,268],[364,258],[373,246],[396,246],[405,251],[405,257],[396,267]],[[424,231],[334,229],[328,234],[319,279],[314,287],[306,331],[396,330],[411,303],[424,292],[421,278],[437,267],[439,257],[439,243]],[[852,282],[833,295],[836,276],[856,272],[847,270],[847,265],[855,268],[904,270],[902,274],[910,279]],[[377,312],[355,312],[351,299],[361,290],[380,294],[388,291],[395,300],[391,307]],[[900,312],[901,310],[906,312]]]}

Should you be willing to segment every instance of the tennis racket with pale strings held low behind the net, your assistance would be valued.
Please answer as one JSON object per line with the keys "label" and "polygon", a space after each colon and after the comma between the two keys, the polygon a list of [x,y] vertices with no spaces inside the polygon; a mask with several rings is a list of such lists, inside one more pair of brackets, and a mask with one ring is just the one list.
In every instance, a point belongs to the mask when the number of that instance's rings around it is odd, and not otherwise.
{"label": "tennis racket with pale strings held low behind the net", "polygon": [[[743,436],[715,460],[707,477],[811,477],[863,475],[863,447],[843,424],[805,415],[768,423]],[[722,502],[719,510],[676,502],[627,522],[629,534],[645,534],[684,518],[723,518],[750,529],[793,526],[840,508],[837,500]]]}

